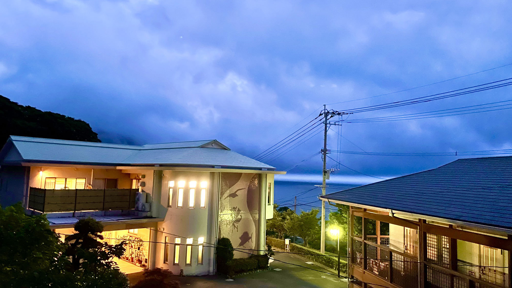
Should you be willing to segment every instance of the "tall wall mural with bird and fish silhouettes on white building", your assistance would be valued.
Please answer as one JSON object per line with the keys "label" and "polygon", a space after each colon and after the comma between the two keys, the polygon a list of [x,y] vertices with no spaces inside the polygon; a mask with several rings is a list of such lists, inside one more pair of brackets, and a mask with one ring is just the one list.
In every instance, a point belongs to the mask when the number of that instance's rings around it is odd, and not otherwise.
{"label": "tall wall mural with bird and fish silhouettes on white building", "polygon": [[[260,175],[222,172],[220,179],[219,237],[227,237],[233,246],[255,249],[259,233]],[[240,234],[239,231],[243,231]],[[249,254],[234,251],[234,257]]]}

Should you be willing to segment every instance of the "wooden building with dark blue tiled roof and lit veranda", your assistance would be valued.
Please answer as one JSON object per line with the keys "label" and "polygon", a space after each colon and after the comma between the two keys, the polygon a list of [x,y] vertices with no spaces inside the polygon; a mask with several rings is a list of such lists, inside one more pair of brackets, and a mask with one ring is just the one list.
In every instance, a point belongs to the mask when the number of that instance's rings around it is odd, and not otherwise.
{"label": "wooden building with dark blue tiled roof and lit veranda", "polygon": [[459,159],[321,200],[350,206],[352,287],[511,287],[512,157]]}

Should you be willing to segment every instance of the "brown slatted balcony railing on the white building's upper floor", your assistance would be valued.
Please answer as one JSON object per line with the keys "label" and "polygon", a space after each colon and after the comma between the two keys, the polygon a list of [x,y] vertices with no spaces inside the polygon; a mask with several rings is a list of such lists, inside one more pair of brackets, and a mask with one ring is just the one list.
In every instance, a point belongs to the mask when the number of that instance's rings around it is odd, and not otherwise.
{"label": "brown slatted balcony railing on the white building's upper floor", "polygon": [[29,208],[42,212],[135,209],[138,189],[40,189],[30,187]]}

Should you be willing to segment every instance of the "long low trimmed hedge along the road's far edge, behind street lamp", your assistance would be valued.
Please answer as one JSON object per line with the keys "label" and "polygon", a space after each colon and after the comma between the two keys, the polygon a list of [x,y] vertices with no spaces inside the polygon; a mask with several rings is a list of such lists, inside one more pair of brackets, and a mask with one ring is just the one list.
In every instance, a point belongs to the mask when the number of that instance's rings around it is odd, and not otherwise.
{"label": "long low trimmed hedge along the road's far edge, behind street lamp", "polygon": [[[285,240],[276,239],[272,237],[267,237],[267,244],[272,247],[285,249]],[[332,267],[334,270],[338,269],[338,258],[334,256],[327,256],[325,254],[320,253],[318,250],[314,250],[311,248],[307,248],[295,243],[290,243],[290,252],[294,253],[304,253],[304,254],[316,254],[316,255],[301,255],[307,259],[313,260],[315,262],[324,264],[328,267]],[[340,260],[339,261],[340,271],[343,273],[347,273],[347,261]]]}

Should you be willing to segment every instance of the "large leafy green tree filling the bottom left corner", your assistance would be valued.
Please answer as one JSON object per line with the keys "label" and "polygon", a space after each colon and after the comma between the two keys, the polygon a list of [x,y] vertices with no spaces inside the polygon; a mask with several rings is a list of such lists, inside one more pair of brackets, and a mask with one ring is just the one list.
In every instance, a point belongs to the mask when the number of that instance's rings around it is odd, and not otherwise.
{"label": "large leafy green tree filling the bottom left corner", "polygon": [[26,215],[20,203],[0,207],[0,247],[3,287],[47,287],[66,275],[61,271],[69,263],[62,256],[66,245],[50,230],[44,215]]}

